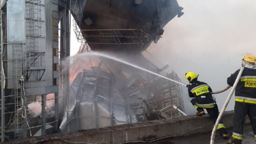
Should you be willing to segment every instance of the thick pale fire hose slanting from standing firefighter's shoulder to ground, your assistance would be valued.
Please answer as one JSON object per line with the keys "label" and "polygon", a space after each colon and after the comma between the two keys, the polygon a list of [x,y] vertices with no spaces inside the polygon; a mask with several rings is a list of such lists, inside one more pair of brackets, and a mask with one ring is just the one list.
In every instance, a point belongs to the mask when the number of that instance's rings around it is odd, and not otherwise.
{"label": "thick pale fire hose slanting from standing firefighter's shoulder to ground", "polygon": [[235,83],[234,83],[231,91],[229,92],[228,98],[226,99],[226,101],[225,101],[225,103],[224,103],[224,105],[222,107],[222,110],[220,111],[219,116],[218,116],[218,118],[217,118],[217,120],[216,120],[216,122],[214,124],[213,130],[212,130],[211,139],[210,139],[210,144],[214,144],[214,138],[215,138],[215,133],[216,133],[216,130],[217,130],[217,126],[218,126],[218,124],[220,122],[220,119],[222,118],[222,115],[223,115],[226,107],[228,106],[230,98],[232,97],[232,95],[233,95],[233,93],[235,91],[235,88],[236,88],[236,86],[237,86],[237,84],[239,82],[239,79],[241,78],[241,75],[242,75],[243,71],[244,71],[244,67],[241,67],[241,69],[240,69],[240,71],[238,73],[238,76],[236,77]]}

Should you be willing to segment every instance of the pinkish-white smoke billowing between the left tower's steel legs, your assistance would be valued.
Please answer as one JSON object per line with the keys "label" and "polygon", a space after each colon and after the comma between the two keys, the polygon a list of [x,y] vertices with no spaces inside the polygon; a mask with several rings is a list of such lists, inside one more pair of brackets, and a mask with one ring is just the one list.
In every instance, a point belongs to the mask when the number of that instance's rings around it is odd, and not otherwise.
{"label": "pinkish-white smoke billowing between the left tower's steel legs", "polygon": [[[54,102],[55,102],[55,94],[47,94],[46,95],[46,112],[47,115],[52,116],[54,112],[52,111],[54,107]],[[32,102],[28,104],[28,111],[27,115],[30,117],[39,117],[42,114],[42,97],[41,96],[36,96],[36,102]]]}

